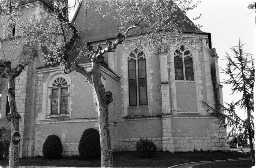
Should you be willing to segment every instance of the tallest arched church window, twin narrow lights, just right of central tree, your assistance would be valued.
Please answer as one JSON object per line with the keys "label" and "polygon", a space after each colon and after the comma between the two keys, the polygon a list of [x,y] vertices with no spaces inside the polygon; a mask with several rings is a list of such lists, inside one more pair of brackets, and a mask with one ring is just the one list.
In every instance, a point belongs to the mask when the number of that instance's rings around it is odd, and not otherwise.
{"label": "tallest arched church window, twin narrow lights, just right of central tree", "polygon": [[135,50],[128,56],[129,106],[148,105],[145,54]]}

